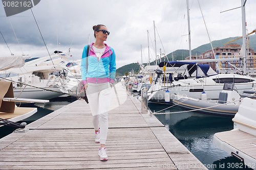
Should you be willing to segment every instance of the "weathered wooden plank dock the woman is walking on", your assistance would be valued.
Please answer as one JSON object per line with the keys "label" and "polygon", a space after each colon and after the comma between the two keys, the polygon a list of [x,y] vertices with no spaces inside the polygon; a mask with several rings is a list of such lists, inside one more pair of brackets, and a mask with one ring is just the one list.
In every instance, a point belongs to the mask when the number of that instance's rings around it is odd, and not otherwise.
{"label": "weathered wooden plank dock the woman is walking on", "polygon": [[0,139],[0,169],[207,169],[121,84],[112,88],[108,161],[100,161],[89,104],[75,101]]}

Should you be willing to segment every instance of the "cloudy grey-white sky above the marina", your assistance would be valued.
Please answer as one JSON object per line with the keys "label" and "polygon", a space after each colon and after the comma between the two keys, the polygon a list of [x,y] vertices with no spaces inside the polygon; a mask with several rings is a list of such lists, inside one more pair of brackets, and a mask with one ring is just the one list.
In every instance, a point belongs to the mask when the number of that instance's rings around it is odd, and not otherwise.
{"label": "cloudy grey-white sky above the marina", "polygon": [[[242,36],[241,8],[230,10],[241,7],[241,0],[189,0],[188,4],[192,50],[210,40]],[[248,33],[256,29],[255,9],[256,1],[247,0]],[[223,12],[226,10],[230,11]],[[0,35],[0,56],[13,53],[45,57],[48,51],[68,52],[70,48],[70,60],[76,61],[83,47],[95,42],[92,27],[98,24],[110,32],[105,43],[115,50],[117,68],[141,63],[141,58],[143,63],[148,58],[152,62],[155,48],[158,56],[160,48],[166,55],[189,48],[186,0],[41,0],[32,11],[9,17],[0,5],[0,31],[4,37]]]}

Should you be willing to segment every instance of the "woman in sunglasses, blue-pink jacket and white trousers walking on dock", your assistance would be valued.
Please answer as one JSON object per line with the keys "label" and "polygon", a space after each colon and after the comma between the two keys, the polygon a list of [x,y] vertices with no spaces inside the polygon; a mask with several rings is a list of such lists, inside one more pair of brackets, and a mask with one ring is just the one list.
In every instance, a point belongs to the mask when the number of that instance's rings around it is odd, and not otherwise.
{"label": "woman in sunglasses, blue-pink jacket and white trousers walking on dock", "polygon": [[[108,134],[108,112],[111,88],[116,75],[116,55],[112,47],[104,43],[110,32],[104,25],[93,26],[95,43],[84,46],[81,60],[82,82],[87,93],[92,122],[95,130],[95,142],[100,142],[100,160],[108,160],[105,150]],[[87,58],[87,49],[89,55]],[[99,130],[100,123],[100,130]]]}

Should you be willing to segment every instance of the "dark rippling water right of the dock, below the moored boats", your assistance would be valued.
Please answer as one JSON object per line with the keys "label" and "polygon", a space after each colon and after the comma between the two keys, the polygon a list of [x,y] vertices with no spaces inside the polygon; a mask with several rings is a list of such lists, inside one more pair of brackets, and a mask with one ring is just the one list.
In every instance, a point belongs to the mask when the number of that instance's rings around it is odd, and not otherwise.
{"label": "dark rippling water right of the dock, below the moored boats", "polygon": [[[149,109],[156,112],[170,106],[173,104],[148,103]],[[184,110],[174,106],[161,112],[177,111]],[[233,129],[232,118],[196,112],[158,114],[156,117],[208,169],[251,169],[213,142],[215,133]]]}

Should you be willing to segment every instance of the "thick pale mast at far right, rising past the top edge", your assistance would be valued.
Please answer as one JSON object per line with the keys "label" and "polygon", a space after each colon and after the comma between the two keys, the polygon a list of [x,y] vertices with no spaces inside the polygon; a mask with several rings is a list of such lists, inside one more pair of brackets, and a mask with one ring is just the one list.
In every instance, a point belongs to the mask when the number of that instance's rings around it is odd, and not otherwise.
{"label": "thick pale mast at far right, rising past the top edge", "polygon": [[244,66],[244,71],[243,75],[247,74],[246,71],[246,21],[245,21],[245,3],[247,0],[241,0],[242,3],[242,30],[243,30],[243,66]]}

